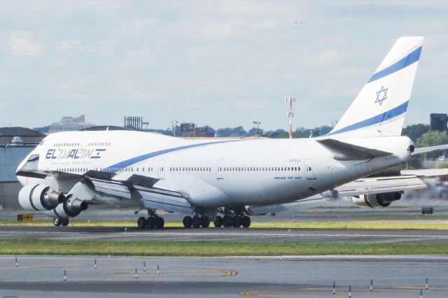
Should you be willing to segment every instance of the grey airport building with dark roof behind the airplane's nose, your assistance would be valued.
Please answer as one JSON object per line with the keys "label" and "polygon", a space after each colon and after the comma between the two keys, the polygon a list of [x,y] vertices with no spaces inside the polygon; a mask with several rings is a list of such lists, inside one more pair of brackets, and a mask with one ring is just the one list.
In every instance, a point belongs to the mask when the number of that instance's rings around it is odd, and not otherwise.
{"label": "grey airport building with dark roof behind the airplane's nose", "polygon": [[45,134],[25,127],[0,128],[0,209],[20,208],[18,194],[22,185],[15,170],[43,138]]}

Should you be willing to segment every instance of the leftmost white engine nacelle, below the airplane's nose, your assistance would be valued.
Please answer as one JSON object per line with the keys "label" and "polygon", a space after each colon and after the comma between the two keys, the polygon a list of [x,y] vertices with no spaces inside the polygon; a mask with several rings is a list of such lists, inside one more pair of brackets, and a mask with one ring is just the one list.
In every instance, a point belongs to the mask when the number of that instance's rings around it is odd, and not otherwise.
{"label": "leftmost white engine nacelle, below the airplane's nose", "polygon": [[48,185],[25,185],[19,192],[19,204],[25,210],[51,210],[64,201],[64,194],[56,192]]}

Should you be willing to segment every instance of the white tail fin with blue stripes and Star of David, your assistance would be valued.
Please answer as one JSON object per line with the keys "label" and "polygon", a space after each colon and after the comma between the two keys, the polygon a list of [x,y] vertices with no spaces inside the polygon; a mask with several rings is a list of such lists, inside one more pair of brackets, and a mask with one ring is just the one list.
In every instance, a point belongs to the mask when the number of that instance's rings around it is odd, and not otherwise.
{"label": "white tail fin with blue stripes and Star of David", "polygon": [[400,37],[327,136],[400,136],[423,37]]}

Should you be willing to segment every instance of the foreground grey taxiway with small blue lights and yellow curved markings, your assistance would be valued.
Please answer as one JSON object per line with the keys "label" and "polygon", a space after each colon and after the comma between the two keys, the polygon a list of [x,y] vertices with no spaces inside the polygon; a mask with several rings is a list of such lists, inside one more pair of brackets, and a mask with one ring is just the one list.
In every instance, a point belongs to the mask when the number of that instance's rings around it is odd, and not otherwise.
{"label": "foreground grey taxiway with small blue lights and yellow curved markings", "polygon": [[20,256],[18,267],[14,257],[5,256],[0,257],[0,293],[17,297],[347,297],[351,285],[353,297],[419,297],[428,278],[424,297],[447,297],[447,269],[448,257],[425,255],[283,260]]}

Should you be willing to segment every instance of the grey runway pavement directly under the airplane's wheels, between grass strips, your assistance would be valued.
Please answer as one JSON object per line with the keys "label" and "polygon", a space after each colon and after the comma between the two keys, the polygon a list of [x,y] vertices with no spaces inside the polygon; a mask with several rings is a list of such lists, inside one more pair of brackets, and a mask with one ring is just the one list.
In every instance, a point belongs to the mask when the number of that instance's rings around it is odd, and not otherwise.
{"label": "grey runway pavement directly under the airplane's wheels, between grass strips", "polygon": [[448,243],[442,229],[138,229],[137,227],[1,226],[0,239],[58,239],[109,241],[249,241]]}

